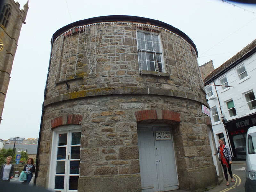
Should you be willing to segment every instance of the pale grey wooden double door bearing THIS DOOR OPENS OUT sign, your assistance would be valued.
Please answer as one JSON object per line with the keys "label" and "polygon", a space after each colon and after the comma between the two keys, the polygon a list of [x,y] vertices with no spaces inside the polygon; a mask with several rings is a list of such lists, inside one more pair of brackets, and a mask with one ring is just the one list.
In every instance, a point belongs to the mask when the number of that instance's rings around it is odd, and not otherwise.
{"label": "pale grey wooden double door bearing THIS DOOR OPENS OUT sign", "polygon": [[142,192],[162,192],[179,188],[173,140],[156,140],[156,131],[170,127],[138,127]]}

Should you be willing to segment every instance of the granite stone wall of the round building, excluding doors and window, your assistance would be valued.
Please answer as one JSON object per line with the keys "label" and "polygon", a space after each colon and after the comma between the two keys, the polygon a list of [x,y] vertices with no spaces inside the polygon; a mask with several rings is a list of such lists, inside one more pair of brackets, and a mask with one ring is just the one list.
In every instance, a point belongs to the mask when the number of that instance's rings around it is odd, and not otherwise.
{"label": "granite stone wall of the round building, excluding doors and window", "polygon": [[[181,189],[216,183],[207,135],[211,121],[202,113],[202,104],[208,104],[194,48],[149,24],[90,27],[74,28],[54,41],[37,185],[49,182],[54,129],[76,124],[82,130],[78,191],[141,191],[137,126],[144,123],[172,127]],[[139,69],[136,30],[146,29],[160,35],[164,72]],[[95,66],[89,59],[95,47],[85,45],[89,32],[90,42],[101,47]]]}

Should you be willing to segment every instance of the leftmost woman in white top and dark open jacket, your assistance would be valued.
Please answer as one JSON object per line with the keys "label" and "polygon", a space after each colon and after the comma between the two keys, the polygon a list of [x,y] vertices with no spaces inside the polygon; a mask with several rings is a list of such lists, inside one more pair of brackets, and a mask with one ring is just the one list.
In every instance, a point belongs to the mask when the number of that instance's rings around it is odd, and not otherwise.
{"label": "leftmost woman in white top and dark open jacket", "polygon": [[6,164],[2,165],[1,167],[1,173],[0,173],[0,179],[1,181],[6,181],[10,182],[10,180],[13,177],[13,164],[12,162],[12,157],[8,156],[6,158]]}

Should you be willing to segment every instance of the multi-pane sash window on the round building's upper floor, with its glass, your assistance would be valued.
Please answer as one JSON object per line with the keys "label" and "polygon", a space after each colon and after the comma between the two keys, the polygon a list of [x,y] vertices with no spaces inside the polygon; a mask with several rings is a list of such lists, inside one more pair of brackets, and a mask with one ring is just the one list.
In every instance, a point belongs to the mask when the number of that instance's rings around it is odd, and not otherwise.
{"label": "multi-pane sash window on the round building's upper floor, with its glass", "polygon": [[139,69],[165,72],[159,35],[137,31]]}

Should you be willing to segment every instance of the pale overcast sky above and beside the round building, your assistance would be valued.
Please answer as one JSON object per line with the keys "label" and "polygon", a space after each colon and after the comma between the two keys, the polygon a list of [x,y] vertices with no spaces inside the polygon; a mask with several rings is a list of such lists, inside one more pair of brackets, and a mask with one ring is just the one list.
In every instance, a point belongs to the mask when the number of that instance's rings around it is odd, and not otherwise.
{"label": "pale overcast sky above and beside the round building", "polygon": [[[27,0],[18,2],[23,8]],[[50,40],[59,28],[105,15],[159,20],[192,39],[199,65],[212,59],[217,68],[256,38],[256,14],[252,13],[256,6],[231,3],[237,6],[222,0],[29,0],[4,104],[0,138],[38,137]]]}

